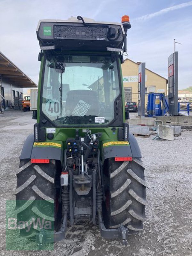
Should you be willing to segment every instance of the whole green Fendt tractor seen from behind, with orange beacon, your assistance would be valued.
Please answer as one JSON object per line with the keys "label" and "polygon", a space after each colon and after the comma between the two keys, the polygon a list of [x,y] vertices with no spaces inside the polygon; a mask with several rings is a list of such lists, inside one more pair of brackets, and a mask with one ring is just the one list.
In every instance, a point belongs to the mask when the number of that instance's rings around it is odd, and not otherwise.
{"label": "whole green Fendt tractor seen from behind, with orange beacon", "polygon": [[[129,28],[128,16],[122,23],[39,21],[37,123],[21,152],[15,190],[17,219],[26,222],[20,236],[59,241],[68,220],[72,226],[85,219],[123,244],[142,230],[144,167],[125,122],[121,72]],[[37,219],[52,229],[29,230]]]}

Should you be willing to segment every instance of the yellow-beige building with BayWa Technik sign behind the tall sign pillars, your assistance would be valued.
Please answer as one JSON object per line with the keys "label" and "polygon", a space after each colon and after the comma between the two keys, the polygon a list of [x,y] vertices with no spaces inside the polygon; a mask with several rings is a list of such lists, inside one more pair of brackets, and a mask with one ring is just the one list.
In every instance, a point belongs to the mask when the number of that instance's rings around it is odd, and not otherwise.
{"label": "yellow-beige building with BayWa Technik sign behind the tall sign pillars", "polygon": [[[123,85],[125,102],[134,101],[138,103],[138,69],[140,62],[126,59],[122,64]],[[145,69],[145,105],[148,94],[152,92],[167,95],[167,79],[155,72]]]}

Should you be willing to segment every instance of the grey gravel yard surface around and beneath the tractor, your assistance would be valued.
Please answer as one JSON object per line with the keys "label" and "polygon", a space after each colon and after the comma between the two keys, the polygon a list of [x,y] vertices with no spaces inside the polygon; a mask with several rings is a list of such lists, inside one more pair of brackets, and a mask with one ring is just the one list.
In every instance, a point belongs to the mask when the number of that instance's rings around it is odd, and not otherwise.
{"label": "grey gravel yard surface around and beneath the tractor", "polygon": [[34,123],[31,112],[0,115],[0,255],[192,255],[192,131],[182,132],[174,141],[153,141],[154,136],[136,138],[146,167],[147,220],[144,230],[130,236],[126,246],[103,239],[98,226],[90,222],[77,222],[68,228],[66,240],[55,243],[54,250],[6,251],[5,201],[15,199],[15,171]]}

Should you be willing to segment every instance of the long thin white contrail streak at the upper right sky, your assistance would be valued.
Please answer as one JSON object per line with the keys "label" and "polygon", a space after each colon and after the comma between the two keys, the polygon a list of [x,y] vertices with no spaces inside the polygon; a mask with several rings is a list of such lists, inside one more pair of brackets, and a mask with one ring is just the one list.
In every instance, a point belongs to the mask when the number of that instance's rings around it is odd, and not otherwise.
{"label": "long thin white contrail streak at the upper right sky", "polygon": [[174,10],[178,10],[178,9],[181,9],[181,8],[185,8],[185,7],[188,7],[188,6],[191,6],[192,5],[192,1],[189,1],[189,2],[186,2],[186,3],[182,3],[182,4],[177,4],[177,5],[174,5],[172,7],[167,7],[167,8],[164,8],[158,12],[153,12],[153,13],[150,13],[150,14],[146,14],[146,15],[143,15],[139,18],[135,18],[133,19],[133,21],[145,21],[145,20],[150,20],[156,16],[159,16],[159,15],[163,15],[167,12],[171,12],[171,11],[174,11]]}

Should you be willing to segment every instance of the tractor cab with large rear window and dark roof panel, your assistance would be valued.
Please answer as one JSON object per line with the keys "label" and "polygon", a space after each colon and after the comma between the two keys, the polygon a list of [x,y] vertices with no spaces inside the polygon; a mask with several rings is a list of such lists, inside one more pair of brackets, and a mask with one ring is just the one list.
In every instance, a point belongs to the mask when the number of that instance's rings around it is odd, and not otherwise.
{"label": "tractor cab with large rear window and dark roof panel", "polygon": [[38,24],[40,119],[56,127],[122,126],[123,25],[77,18]]}

